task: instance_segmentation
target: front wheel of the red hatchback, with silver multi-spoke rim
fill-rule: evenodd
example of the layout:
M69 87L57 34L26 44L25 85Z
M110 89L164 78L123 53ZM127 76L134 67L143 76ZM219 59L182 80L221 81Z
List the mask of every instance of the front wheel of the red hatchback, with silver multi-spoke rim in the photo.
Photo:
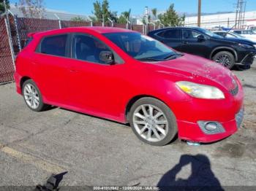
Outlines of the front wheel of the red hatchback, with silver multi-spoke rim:
M176 117L156 98L140 98L129 112L129 122L138 139L154 146L170 143L177 134Z

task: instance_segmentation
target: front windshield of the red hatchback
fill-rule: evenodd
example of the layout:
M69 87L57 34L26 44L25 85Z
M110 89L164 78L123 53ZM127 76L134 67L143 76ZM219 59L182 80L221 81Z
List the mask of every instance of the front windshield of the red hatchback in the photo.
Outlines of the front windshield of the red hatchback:
M140 61L163 61L178 55L161 42L135 32L103 34L124 52Z

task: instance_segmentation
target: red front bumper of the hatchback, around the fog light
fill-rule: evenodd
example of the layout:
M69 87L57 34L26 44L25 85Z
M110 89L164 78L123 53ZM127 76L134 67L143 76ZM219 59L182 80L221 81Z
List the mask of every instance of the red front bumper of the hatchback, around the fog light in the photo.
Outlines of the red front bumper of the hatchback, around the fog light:
M183 112L176 113L178 138L196 142L214 142L236 133L244 117L244 92L238 85L236 95L224 100L193 99L184 105ZM218 122L223 130L207 133L200 127L200 121ZM199 122L199 123L198 123Z

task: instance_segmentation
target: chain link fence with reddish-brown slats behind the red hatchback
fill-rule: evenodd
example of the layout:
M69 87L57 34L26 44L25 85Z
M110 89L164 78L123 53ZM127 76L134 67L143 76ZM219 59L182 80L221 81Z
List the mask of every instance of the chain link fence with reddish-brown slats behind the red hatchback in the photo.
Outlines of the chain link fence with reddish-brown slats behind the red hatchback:
M4 20L4 17L0 17L0 84L13 80L15 67L12 62L12 55L15 57L15 55L22 50L26 44L29 33L75 26L102 26L102 23L87 21L48 20L31 17L15 17L14 15L9 15L10 25L6 24ZM112 25L111 23L105 23L104 26L110 27ZM128 28L142 34L146 34L148 31L156 28L156 26L152 25L145 26L118 23L113 23L113 27ZM8 30L10 31L9 36Z

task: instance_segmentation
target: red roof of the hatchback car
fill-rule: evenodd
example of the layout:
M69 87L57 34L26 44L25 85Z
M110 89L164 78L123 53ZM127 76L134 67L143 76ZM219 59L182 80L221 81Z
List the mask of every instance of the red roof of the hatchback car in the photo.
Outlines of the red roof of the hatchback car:
M75 31L94 31L98 34L109 34L109 33L121 33L121 32L134 32L137 33L137 31L131 31L125 28L116 28L116 27L102 27L102 26L82 26L82 27L69 27L69 28L61 28L61 29L54 29L50 31L39 31L36 33L30 33L28 36L34 36L34 35L48 35L48 34L58 34L62 32L75 32Z

